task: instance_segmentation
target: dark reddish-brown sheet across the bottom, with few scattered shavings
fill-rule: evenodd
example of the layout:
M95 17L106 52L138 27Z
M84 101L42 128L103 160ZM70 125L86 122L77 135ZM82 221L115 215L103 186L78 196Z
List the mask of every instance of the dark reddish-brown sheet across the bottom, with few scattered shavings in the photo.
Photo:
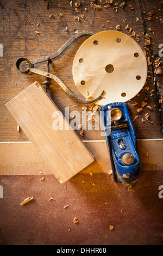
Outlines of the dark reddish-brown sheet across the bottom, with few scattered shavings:
M108 174L77 174L67 188L44 177L0 177L1 245L162 245L162 171L143 172L133 191ZM27 197L33 200L21 206Z

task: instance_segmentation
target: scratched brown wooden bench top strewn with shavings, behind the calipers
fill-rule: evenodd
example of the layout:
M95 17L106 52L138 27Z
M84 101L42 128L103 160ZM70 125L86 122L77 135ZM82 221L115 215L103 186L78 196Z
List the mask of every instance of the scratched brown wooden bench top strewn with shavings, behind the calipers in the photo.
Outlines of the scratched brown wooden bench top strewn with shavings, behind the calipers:
M158 59L159 45L162 43L162 25L160 19L162 15L161 2L153 1L126 1L123 9L119 7L118 11L113 9L113 4L108 8L104 8L106 4L102 4L101 10L91 8L90 1L84 1L76 12L72 1L48 1L48 9L46 1L1 1L1 44L3 44L4 57L0 57L0 72L1 72L1 141L27 141L27 137L23 132L16 132L16 121L11 117L5 103L11 100L24 88L29 86L34 81L43 84L44 78L34 74L23 75L16 70L15 62L17 58L27 57L29 60L46 56L57 51L72 35L74 29L78 32L92 31L97 33L104 30L116 30L116 25L120 24L121 32L130 35L129 29L125 29L127 25L140 35L138 44L144 49L145 35L151 35L151 46L147 47L147 57L151 58L152 65L149 66L150 77L147 78L147 84L142 89L139 96L127 102L131 119L137 115L136 107L141 107L141 102L145 100L147 105L153 107L153 111L143 107L143 111L139 114L140 118L133 122L137 138L161 138L162 129L162 112L161 99L162 93L162 76L154 74L154 60ZM122 1L121 1L122 2ZM104 3L104 2L103 2ZM98 2L98 4L100 4ZM134 8L130 9L129 4ZM87 8L85 11L84 8ZM155 8L154 8L155 7ZM159 10L160 9L160 10ZM143 13L145 11L145 13ZM154 11L152 20L146 20L149 16L148 11ZM49 15L53 14L52 17ZM61 17L59 14L63 14ZM74 16L84 15L84 19L80 17L80 21L74 20ZM140 21L136 22L136 17ZM156 17L158 17L156 19ZM110 21L110 22L107 22ZM39 22L39 26L38 25ZM66 27L68 30L66 31ZM152 29L152 32L148 28ZM39 34L36 34L38 31ZM82 97L77 88L74 87L72 79L72 62L73 58L82 44L87 38L81 38L69 47L61 56L55 59L51 65L51 72L57 75L76 95ZM135 39L135 38L134 38ZM135 39L136 40L136 39ZM137 41L137 40L136 40ZM161 57L162 60L162 57ZM92 60L93 61L93 60ZM91 63L90 63L91 65ZM38 68L46 70L46 64L35 65ZM159 87L153 84L154 77ZM149 89L147 90L146 87ZM151 93L151 90L155 90ZM64 107L70 107L70 112L77 110L82 113L82 104L72 100L55 82L48 90L48 94L52 97L60 111L64 113ZM150 96L153 94L153 96ZM136 106L132 103L137 102ZM154 107L155 106L155 107ZM142 123L142 118L146 113L149 113L153 124ZM77 131L79 134L79 131ZM85 139L101 139L99 131L86 131Z

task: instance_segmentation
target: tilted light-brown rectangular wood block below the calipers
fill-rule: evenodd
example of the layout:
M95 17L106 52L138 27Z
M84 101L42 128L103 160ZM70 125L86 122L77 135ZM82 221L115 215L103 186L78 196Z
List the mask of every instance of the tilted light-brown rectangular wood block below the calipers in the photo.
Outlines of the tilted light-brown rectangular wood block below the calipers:
M94 161L38 82L31 84L6 106L60 182L67 181ZM61 130L52 127L55 112L55 117L63 121Z

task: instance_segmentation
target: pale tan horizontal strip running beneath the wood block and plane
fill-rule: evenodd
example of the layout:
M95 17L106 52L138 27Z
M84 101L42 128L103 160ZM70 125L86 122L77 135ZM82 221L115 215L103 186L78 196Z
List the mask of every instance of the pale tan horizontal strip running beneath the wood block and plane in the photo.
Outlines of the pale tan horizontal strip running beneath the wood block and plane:
M105 141L84 141L95 161L80 173L108 173L111 169ZM138 151L143 171L162 170L163 140L138 140ZM0 175L52 174L46 161L37 154L30 142L0 143Z

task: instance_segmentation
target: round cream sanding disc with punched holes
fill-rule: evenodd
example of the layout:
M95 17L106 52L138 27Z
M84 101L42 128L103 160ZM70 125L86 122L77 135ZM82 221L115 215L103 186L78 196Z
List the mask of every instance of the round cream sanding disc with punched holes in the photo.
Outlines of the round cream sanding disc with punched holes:
M80 46L73 60L73 80L86 99L98 105L125 102L140 92L147 78L147 60L130 36L118 31L92 35Z

